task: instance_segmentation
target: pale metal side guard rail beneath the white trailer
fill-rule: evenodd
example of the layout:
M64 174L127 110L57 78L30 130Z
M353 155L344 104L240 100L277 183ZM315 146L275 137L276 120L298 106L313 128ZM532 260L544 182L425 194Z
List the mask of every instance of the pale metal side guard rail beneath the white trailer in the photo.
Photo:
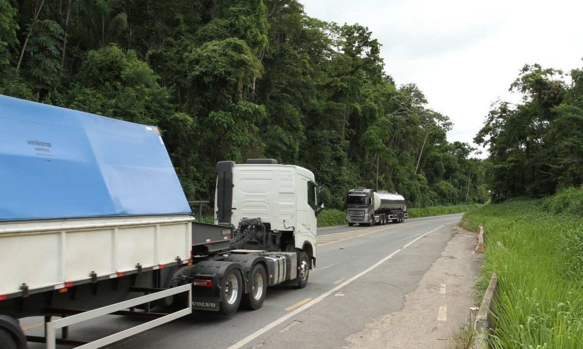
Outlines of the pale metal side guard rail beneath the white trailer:
M107 346L108 344L114 343L118 340L125 339L129 336L133 336L134 334L138 334L140 332L152 329L153 327L162 325L163 323L167 323L174 319L178 319L182 316L191 314L192 286L190 284L185 284L182 286L174 287L172 289L157 291L155 293L146 294L141 297L132 298L131 300L107 305L106 307L80 312L79 314L66 316L65 318L49 320L45 322L45 342L47 343L47 349L55 349L55 347L59 343L60 339L57 339L55 336L55 331L58 329L66 329L68 326L75 325L87 320L91 320L99 316L109 315L115 312L119 313L124 309L134 308L141 304L146 304L152 301L160 300L162 298L184 292L188 292L187 305L185 308L181 308L178 311L172 312L170 314L162 315L159 318L155 318L148 322L142 323L141 325L131 327L121 332L110 334L109 336L103 337L101 339L85 342L81 346L75 347L75 349L101 348L103 346ZM68 344L83 343L82 341L72 340L65 341L69 342Z

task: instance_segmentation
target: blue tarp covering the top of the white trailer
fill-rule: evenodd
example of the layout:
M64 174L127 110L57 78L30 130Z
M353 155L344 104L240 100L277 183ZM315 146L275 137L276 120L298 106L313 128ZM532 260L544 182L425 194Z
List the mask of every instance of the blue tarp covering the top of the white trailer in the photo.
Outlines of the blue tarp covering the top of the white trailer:
M0 220L190 212L156 127L0 95Z

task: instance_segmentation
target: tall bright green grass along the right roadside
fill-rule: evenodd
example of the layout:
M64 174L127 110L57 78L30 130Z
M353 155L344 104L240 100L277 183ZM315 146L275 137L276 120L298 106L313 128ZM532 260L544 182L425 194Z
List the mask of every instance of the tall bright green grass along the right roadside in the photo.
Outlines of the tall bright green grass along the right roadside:
M583 190L545 200L484 205L462 224L484 224L486 251L477 288L498 275L493 348L583 347L583 218L570 213ZM561 209L551 210L550 207Z

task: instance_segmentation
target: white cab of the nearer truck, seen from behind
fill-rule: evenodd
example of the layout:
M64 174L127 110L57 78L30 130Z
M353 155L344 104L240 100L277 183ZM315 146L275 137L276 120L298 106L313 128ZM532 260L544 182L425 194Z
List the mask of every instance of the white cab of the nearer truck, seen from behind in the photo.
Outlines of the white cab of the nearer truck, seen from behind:
M216 170L215 224L235 228L231 247L297 251L301 272L313 269L317 215L324 207L314 173L273 159L221 161Z

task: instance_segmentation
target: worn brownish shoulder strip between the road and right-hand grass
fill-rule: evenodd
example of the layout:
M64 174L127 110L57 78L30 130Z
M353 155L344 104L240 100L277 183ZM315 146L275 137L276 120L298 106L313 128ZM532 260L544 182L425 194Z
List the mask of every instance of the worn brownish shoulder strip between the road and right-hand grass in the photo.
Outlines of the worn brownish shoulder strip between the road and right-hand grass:
M473 285L482 255L473 252L476 233L452 226L452 238L441 257L406 295L403 309L367 324L347 338L347 349L442 349L454 346L452 336L475 305Z

